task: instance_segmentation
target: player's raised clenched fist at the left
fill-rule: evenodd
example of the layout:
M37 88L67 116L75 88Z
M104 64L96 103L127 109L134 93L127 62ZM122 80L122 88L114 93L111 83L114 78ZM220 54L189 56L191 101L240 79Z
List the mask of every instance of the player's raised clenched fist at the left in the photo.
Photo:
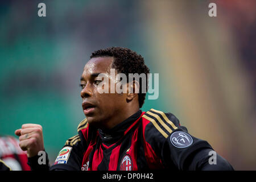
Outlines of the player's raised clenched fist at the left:
M27 157L38 155L44 150L43 128L41 125L24 124L21 129L15 131L19 137L19 146L23 151L27 151Z

